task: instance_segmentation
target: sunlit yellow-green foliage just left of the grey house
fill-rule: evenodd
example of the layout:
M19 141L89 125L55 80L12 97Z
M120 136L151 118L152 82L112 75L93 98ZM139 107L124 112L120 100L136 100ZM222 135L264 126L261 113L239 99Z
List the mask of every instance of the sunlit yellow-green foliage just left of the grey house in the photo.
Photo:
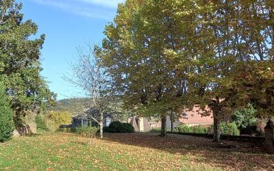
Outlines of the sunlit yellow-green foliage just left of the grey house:
M71 114L68 111L50 111L49 119L56 124L71 124Z

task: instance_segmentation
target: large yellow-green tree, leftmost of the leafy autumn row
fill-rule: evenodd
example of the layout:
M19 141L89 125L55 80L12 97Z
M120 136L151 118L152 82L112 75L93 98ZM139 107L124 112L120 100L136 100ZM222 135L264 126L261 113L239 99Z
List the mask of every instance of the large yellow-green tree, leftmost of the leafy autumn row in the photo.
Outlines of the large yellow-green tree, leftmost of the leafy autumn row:
M184 75L176 73L164 49L182 50L178 1L126 1L114 23L105 28L103 63L114 76L115 88L128 108L162 120L166 135L168 111L178 108L176 96L186 90ZM184 30L184 29L183 29ZM179 72L182 72L179 70Z

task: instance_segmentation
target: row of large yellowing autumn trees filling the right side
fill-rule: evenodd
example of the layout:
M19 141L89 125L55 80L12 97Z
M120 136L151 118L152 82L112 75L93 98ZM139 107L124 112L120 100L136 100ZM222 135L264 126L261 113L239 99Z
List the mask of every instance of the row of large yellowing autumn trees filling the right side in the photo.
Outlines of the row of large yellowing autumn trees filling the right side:
M221 117L248 103L272 122L273 10L267 0L127 0L95 53L125 107L162 118L162 136L167 114L200 105L219 142Z

